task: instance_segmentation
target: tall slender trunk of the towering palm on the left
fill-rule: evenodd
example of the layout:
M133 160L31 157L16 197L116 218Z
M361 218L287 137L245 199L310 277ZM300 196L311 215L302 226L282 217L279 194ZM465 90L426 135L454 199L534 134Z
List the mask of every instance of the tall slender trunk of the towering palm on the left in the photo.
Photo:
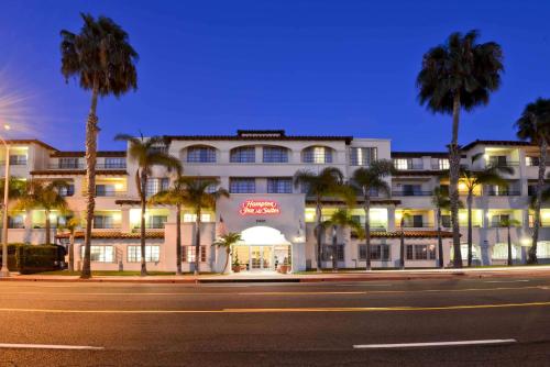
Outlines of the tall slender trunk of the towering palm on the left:
M91 92L91 105L86 122L86 232L84 235L84 262L80 278L91 278L90 248L91 248L91 226L94 222L94 210L96 209L96 156L97 138L99 133L98 118L96 110L98 105L99 86L94 82Z

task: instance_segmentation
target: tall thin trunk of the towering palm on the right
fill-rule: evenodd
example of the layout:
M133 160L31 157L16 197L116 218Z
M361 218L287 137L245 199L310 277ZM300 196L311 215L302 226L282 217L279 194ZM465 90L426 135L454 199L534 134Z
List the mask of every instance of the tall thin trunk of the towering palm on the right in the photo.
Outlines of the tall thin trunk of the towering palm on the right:
M459 224L459 175L460 175L460 149L459 149L459 119L460 119L460 93L453 99L452 111L452 140L449 145L449 199L451 201L452 221L452 245L454 251L453 265L462 267L462 255L460 253L460 224Z

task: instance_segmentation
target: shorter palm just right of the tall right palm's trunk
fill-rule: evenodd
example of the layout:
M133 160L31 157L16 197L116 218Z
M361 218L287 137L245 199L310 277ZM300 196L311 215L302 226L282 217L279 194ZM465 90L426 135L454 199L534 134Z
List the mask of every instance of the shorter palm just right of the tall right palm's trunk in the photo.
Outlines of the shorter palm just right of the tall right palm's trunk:
M483 154L472 157L472 163L477 160ZM483 185L494 185L498 187L508 187L508 182L503 178L503 174L513 175L514 168L498 165L490 165L484 169L461 168L460 180L464 184L468 196L468 266L472 266L472 204L474 200L474 190Z

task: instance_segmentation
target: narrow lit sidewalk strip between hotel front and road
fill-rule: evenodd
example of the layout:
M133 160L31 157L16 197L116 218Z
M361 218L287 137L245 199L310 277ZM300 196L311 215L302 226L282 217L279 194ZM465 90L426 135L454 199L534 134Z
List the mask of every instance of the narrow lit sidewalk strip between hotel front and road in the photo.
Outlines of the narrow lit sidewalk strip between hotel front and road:
M62 282L124 282L124 283L223 283L223 282L323 282L323 281L373 281L414 279L462 279L490 277L548 277L550 266L515 266L462 269L411 269L411 270L342 270L339 273L277 274L240 273L230 275L185 276L95 276L82 280L78 276L19 275L11 274L0 281L62 281Z

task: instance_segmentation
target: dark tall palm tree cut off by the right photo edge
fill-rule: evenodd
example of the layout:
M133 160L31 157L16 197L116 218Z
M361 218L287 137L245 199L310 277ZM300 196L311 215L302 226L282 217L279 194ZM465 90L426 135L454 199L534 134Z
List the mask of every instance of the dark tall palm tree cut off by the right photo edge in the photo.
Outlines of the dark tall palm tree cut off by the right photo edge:
M535 223L532 229L532 245L528 253L528 264L537 264L537 242L540 230L540 205L542 204L542 190L547 168L548 142L550 140L550 99L539 98L526 105L521 116L516 121L517 136L529 141L539 147L539 177L537 196L535 198Z

